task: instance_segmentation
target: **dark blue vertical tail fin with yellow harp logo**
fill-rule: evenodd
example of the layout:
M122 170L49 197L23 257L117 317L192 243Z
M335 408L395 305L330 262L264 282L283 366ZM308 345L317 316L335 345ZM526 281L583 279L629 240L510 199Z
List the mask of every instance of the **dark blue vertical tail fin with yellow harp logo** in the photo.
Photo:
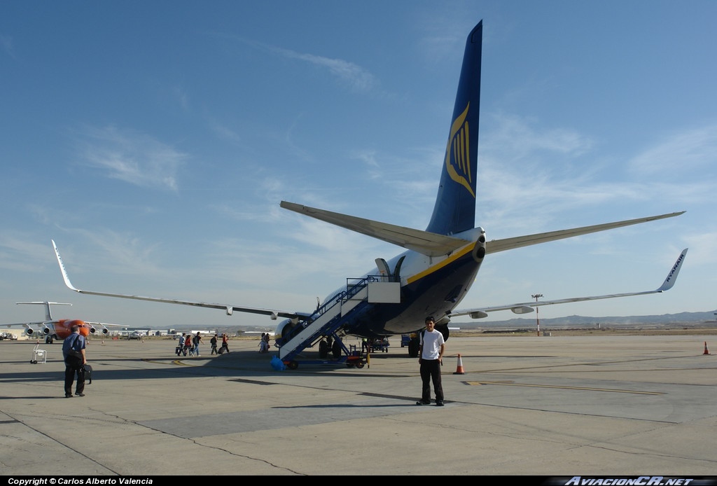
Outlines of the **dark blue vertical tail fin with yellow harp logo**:
M427 232L455 234L475 227L480 57L483 21L468 35L440 186Z

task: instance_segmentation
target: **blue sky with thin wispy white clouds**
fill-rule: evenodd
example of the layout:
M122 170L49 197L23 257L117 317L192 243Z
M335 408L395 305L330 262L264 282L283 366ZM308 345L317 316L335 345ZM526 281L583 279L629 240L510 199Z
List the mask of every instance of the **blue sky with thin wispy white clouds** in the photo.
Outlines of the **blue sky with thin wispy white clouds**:
M76 287L281 310L402 251L281 200L423 229L483 19L488 239L686 210L490 255L460 308L657 288L563 315L717 308L714 1L0 3L1 322L267 325ZM504 320L495 313L488 320Z

